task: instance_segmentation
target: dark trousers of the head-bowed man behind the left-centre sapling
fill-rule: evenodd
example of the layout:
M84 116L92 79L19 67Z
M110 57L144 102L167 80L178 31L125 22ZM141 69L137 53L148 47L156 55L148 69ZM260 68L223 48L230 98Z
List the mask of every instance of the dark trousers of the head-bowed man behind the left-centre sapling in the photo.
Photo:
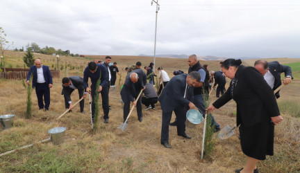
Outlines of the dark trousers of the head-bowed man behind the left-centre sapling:
M92 93L92 118L94 118L94 109L95 109L95 103L94 103L94 96L96 94L96 86L91 86L91 93ZM102 98L102 108L103 108L103 118L104 120L108 119L108 113L109 113L109 107L108 107L108 86L102 87L101 98Z

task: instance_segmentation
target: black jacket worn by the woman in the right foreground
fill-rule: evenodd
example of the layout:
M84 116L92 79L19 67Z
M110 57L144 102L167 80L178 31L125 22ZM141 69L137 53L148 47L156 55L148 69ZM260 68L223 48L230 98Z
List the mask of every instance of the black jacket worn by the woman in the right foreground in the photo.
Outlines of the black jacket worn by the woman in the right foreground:
M251 66L238 67L235 82L231 80L229 88L213 106L219 109L231 99L237 103L237 126L242 123L251 127L280 115L274 92L263 75Z

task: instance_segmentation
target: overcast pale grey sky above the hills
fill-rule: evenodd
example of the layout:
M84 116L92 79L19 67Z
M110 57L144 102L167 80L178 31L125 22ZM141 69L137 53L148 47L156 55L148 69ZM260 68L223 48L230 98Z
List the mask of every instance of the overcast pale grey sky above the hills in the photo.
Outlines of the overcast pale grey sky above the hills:
M299 0L158 0L156 54L300 57ZM153 55L151 0L1 0L15 48L35 42L86 55Z

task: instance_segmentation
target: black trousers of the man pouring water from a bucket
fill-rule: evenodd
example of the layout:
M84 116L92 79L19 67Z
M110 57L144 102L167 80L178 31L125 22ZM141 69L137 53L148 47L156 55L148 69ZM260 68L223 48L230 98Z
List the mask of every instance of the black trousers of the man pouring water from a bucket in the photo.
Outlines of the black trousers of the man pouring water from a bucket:
M188 111L187 107L179 106L174 109L174 113L177 119L177 134L185 134L185 120L186 112ZM160 142L165 143L169 142L169 122L172 118L172 111L163 112L163 123Z

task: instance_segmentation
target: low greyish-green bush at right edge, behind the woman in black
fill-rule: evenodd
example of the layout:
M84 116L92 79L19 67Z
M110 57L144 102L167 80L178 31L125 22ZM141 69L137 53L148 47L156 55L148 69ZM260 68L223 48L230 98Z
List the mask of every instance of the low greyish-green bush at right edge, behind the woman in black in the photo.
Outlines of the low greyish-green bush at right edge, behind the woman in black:
M296 101L284 100L278 102L278 107L281 113L286 113L293 117L300 117L300 104Z

